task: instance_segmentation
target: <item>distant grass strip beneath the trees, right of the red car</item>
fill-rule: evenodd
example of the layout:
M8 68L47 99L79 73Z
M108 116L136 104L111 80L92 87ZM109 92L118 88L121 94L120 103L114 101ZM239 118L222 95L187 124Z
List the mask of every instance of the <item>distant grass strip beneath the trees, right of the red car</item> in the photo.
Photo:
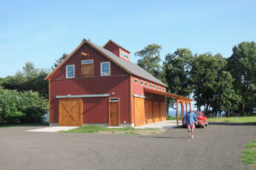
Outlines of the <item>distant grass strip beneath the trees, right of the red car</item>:
M256 116L214 117L208 118L208 122L256 122Z

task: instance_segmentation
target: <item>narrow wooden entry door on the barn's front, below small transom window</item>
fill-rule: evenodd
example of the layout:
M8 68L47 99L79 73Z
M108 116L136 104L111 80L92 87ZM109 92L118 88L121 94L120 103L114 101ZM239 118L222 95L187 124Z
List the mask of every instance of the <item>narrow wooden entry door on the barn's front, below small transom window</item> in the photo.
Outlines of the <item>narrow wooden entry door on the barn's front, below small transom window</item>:
M119 126L119 101L109 101L109 126Z

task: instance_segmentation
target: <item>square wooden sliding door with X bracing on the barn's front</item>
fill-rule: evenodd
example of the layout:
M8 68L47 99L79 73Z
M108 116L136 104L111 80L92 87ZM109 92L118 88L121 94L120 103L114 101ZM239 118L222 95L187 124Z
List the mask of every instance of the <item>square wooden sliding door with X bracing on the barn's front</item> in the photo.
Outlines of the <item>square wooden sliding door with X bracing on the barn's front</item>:
M83 99L59 99L59 125L83 125Z

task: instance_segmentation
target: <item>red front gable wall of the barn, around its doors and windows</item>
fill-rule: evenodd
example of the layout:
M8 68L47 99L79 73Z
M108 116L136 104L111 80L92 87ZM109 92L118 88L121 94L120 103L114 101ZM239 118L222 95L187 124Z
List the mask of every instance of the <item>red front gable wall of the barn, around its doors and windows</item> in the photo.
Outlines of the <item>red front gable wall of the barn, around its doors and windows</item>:
M83 56L81 52L89 54L89 57ZM81 77L80 66L82 59L94 59L94 77ZM50 83L50 122L57 123L59 121L56 95L110 94L109 97L119 97L119 122L131 123L130 75L110 61L111 76L102 77L102 61L110 60L88 44L84 44L78 52L73 54L73 57L67 60L65 65L55 71ZM75 65L75 78L66 78L66 65ZM89 102L87 106L86 101ZM106 114L108 105L107 107L105 106L107 101L108 97L104 99L84 99L84 123L108 123L108 115ZM93 104L93 102L95 103ZM94 109L85 111L88 107L94 107ZM102 111L102 113L98 111ZM100 116L102 117L98 118L99 115L96 116L92 113L101 114Z

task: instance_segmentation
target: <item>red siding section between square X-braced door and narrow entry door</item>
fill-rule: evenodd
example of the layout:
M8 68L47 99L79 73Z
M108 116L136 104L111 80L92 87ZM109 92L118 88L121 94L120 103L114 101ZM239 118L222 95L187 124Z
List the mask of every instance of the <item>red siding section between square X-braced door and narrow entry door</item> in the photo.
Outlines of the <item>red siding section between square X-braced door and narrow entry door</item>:
M84 98L84 123L108 123L108 98Z

